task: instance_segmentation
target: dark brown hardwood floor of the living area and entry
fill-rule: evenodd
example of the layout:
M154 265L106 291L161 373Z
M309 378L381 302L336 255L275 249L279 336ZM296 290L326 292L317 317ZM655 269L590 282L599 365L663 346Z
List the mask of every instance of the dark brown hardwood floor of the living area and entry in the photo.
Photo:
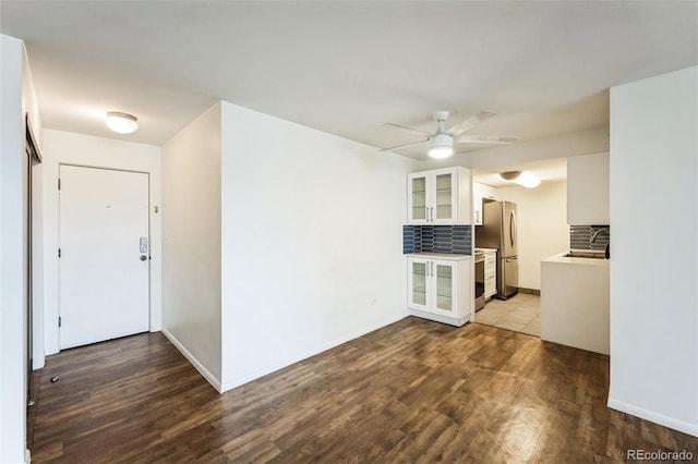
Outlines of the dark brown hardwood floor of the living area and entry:
M222 395L160 333L50 356L39 382L34 463L698 460L606 407L607 356L478 323L410 317Z

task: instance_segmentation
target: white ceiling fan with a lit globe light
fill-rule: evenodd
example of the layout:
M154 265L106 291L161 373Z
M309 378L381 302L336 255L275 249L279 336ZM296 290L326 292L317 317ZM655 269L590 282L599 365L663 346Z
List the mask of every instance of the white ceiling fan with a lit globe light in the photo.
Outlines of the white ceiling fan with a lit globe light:
M477 124L489 120L496 115L492 111L480 111L478 114L472 115L461 122L460 124L446 130L444 123L450 115L449 111L441 110L432 114L432 119L438 123L436 132L430 134L429 132L418 131L416 129L405 127L402 125L386 123L385 127L397 129L402 132L407 132L413 135L420 135L426 137L423 141L410 142L409 144L397 145L388 148L381 148L378 151L388 151L397 148L409 147L411 145L418 145L429 142L429 156L432 158L446 158L454 154L454 142L457 144L510 144L516 142L518 137L501 137L493 135L462 135L464 132L469 131Z

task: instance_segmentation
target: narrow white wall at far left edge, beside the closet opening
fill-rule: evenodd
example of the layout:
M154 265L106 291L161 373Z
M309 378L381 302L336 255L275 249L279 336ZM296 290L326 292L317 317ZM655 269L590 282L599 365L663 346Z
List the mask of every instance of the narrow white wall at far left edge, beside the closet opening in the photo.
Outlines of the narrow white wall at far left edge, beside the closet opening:
M0 35L0 462L25 462L27 281L23 216L25 124L41 131L26 51ZM40 138L38 141L40 144ZM40 274L40 269L38 269Z

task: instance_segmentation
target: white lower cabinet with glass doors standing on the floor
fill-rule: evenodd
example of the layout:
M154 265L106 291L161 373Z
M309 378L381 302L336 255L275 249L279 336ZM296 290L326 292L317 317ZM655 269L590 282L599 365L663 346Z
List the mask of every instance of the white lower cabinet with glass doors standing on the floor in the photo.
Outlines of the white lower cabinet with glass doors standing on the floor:
M472 258L468 255L407 255L407 303L412 316L460 327L472 321Z

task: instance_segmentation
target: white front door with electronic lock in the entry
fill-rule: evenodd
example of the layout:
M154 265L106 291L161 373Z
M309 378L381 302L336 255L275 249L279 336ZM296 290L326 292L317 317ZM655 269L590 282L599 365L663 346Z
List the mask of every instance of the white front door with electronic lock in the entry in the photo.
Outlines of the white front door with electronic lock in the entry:
M149 329L148 174L60 167L60 346Z

